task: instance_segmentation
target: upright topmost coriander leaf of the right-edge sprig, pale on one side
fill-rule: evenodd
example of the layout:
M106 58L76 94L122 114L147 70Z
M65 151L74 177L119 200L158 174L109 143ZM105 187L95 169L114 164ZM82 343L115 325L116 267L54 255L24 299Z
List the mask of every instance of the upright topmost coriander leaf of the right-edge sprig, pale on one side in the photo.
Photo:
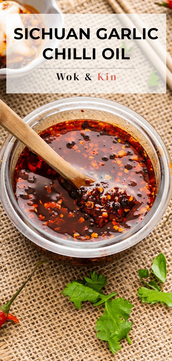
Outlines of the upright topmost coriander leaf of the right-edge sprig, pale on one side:
M166 259L163 253L160 253L158 257L154 258L152 263L151 272L159 279L160 282L164 283L167 276Z

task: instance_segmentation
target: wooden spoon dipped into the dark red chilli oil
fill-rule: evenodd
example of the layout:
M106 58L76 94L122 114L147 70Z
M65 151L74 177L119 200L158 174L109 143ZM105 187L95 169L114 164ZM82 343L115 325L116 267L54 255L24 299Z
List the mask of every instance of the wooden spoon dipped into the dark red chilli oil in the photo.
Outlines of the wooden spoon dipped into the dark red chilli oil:
M20 118L12 109L0 100L0 125L25 144L63 178L72 182L78 189L88 186L94 179L79 172L61 158L40 136Z

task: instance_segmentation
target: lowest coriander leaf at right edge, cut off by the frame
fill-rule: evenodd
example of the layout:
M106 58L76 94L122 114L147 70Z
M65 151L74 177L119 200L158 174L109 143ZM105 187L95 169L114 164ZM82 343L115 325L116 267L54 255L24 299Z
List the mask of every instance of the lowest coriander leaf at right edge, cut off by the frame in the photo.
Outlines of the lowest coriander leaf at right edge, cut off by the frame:
M137 296L141 297L142 302L147 303L165 303L167 306L172 307L172 293L149 290L146 287L140 287L138 289Z

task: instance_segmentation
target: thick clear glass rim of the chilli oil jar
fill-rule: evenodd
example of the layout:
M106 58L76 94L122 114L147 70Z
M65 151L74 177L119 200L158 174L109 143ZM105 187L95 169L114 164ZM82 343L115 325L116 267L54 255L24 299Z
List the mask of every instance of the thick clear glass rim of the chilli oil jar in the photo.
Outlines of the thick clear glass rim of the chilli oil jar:
M8 161L10 161L10 151L16 139L11 135L7 137L0 152L0 199L10 220L17 229L32 242L47 249L48 251L64 256L93 258L124 251L141 241L141 239L145 238L162 218L170 199L172 184L170 176L170 157L162 138L149 122L125 105L97 97L69 97L53 101L37 108L33 112L29 113L24 120L27 123L32 123L32 126L34 126L42 119L48 117L48 115L50 116L65 109L85 108L98 109L104 112L107 111L108 113L112 112L121 118L125 118L128 122L137 124L144 135L149 135L149 139L151 140L153 147L156 149L162 174L160 178L159 191L154 204L142 221L125 234L119 234L111 239L99 240L96 242L75 242L72 240L64 240L58 236L49 235L44 230L37 228L36 225L34 226L34 224L25 216L18 206L12 190L10 172L7 164ZM36 121L36 117L39 118L39 120Z

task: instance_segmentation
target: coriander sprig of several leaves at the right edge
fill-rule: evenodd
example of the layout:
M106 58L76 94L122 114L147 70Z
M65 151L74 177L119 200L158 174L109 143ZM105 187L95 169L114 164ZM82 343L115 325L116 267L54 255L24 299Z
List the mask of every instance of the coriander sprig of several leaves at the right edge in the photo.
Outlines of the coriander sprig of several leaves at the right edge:
M158 257L154 258L152 263L151 272L162 283L165 282L167 276L166 259L163 253L160 253ZM145 283L147 287L140 287L137 295L141 297L142 302L146 303L165 303L167 306L172 307L172 293L161 291L160 287L154 280L146 282L143 278L150 277L148 270L138 270L139 278Z

